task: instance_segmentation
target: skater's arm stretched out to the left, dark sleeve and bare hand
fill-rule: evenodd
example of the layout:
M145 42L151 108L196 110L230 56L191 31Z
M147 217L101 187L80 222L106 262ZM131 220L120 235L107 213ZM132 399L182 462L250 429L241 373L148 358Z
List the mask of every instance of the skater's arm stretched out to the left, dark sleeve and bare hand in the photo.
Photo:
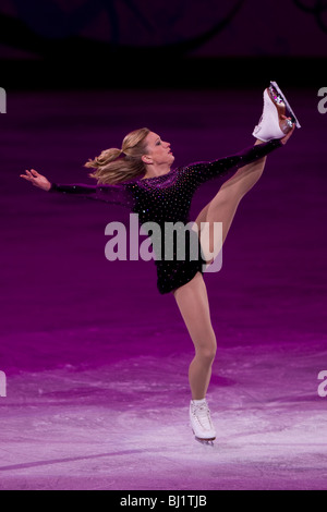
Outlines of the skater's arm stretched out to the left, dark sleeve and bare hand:
M39 174L35 169L26 170L26 174L21 174L26 181L34 186L50 193L74 194L82 197L102 200L105 203L117 204L130 208L132 206L132 197L125 186L117 185L85 185L80 183L58 184L51 183L46 176Z

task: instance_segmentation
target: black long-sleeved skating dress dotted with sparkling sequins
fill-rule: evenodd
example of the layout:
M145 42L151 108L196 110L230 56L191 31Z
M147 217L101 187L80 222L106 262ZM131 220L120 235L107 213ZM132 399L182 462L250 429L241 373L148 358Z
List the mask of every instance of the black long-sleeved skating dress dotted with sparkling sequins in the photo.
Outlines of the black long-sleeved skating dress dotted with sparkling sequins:
M196 272L203 272L205 260L202 257L198 235L193 230L184 230L185 253L183 259L177 254L177 235L170 231L165 236L165 225L168 222L175 225L186 225L190 222L190 207L194 193L198 187L215 178L226 176L230 170L251 163L281 146L279 139L252 146L229 157L209 162L195 162L185 167L172 169L160 176L130 180L116 185L84 185L52 183L49 192L76 194L110 204L129 208L138 214L140 224L156 222L161 229L161 252L155 252L157 267L157 288L161 294L187 283ZM217 194L218 188L215 188ZM170 224L170 225L172 225ZM153 236L152 236L153 237ZM196 237L198 256L190 251L190 237ZM165 249L172 247L172 254L167 256ZM156 245L158 247L158 245Z

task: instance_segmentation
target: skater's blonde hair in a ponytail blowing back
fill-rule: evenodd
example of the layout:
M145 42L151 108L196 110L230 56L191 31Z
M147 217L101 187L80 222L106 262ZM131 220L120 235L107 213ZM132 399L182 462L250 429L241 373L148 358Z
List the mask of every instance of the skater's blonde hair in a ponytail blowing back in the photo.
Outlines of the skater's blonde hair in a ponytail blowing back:
M129 133L122 143L121 149L105 149L94 160L88 160L84 167L95 169L89 178L98 181L98 184L114 184L135 178L146 171L142 160L146 154L145 138L150 132L143 127Z

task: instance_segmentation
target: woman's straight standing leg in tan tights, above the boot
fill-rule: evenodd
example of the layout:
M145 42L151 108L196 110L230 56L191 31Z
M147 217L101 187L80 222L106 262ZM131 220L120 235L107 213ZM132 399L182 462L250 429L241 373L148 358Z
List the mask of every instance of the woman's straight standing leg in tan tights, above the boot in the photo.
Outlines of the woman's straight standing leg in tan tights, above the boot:
M201 272L173 292L195 346L195 356L190 365L189 380L193 400L205 398L216 355L216 336L211 326L206 285Z

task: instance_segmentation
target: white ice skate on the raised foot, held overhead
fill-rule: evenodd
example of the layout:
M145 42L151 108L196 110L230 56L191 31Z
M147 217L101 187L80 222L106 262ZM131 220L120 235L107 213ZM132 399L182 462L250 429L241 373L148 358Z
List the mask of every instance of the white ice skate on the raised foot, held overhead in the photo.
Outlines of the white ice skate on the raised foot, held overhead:
M276 82L270 82L264 92L263 114L252 135L264 142L282 138L293 127L293 123L301 127L286 96Z

